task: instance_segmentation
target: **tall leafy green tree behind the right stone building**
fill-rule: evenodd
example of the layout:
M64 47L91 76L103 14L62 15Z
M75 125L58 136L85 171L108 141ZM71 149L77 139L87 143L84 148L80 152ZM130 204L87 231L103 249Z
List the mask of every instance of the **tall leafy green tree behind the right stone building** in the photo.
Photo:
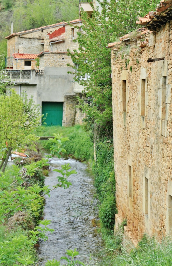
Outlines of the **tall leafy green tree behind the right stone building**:
M79 49L68 51L74 63L74 80L85 88L86 99L80 99L80 107L86 113L86 126L92 128L95 139L113 137L111 58L106 46L118 40L118 36L136 29L137 16L155 8L155 0L98 2L101 13L92 3L92 18L81 12L82 31L74 40ZM89 73L88 80L81 78L85 73Z

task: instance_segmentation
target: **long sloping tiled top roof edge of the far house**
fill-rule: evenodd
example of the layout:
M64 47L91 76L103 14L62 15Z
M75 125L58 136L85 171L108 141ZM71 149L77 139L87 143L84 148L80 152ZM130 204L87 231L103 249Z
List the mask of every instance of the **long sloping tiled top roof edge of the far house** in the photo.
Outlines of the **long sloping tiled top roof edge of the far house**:
M69 23L81 22L81 21L82 21L81 19L75 19L75 20L69 21ZM61 25L64 25L64 24L69 24L69 23L63 21L63 22L59 22L59 23L56 23L56 24L51 24L51 25L47 25L47 26L43 26L43 27L31 29L31 30L15 32L15 33L10 34L9 36L5 37L5 39L10 39L10 38L12 38L13 36L16 36L16 35L27 34L27 33L30 33L30 32L40 31L40 30L44 30L44 29L48 29L48 28L53 28L53 27L56 27L56 26L61 26Z

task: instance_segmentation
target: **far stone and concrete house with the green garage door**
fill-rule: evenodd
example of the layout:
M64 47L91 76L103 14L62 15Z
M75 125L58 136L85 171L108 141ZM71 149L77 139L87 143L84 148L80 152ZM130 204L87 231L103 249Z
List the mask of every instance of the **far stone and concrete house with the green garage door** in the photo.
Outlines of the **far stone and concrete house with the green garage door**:
M78 48L73 40L78 31L75 26L81 24L82 20L76 19L6 37L7 74L19 94L26 91L42 106L42 114L48 114L47 125L71 126L82 121L75 105L83 87L73 81L73 75L68 74L73 68L67 66L72 64L67 49Z

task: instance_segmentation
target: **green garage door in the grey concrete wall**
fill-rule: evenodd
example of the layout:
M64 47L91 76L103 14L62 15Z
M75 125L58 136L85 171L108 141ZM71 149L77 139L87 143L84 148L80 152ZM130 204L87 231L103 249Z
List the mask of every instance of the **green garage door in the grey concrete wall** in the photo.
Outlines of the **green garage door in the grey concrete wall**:
M63 102L42 102L42 114L47 114L44 122L47 126L62 126Z

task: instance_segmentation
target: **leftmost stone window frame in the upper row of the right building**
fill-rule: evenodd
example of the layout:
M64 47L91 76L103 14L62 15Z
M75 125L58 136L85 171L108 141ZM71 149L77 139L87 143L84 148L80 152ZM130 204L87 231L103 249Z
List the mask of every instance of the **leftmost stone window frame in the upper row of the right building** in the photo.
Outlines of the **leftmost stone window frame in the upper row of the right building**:
M126 82L125 97L124 97L124 81ZM129 102L127 70L122 70L121 72L120 102L121 102L121 110L122 110L122 122L123 122L123 125L126 126L126 113L128 111L127 103ZM124 104L125 104L125 108L124 108Z

